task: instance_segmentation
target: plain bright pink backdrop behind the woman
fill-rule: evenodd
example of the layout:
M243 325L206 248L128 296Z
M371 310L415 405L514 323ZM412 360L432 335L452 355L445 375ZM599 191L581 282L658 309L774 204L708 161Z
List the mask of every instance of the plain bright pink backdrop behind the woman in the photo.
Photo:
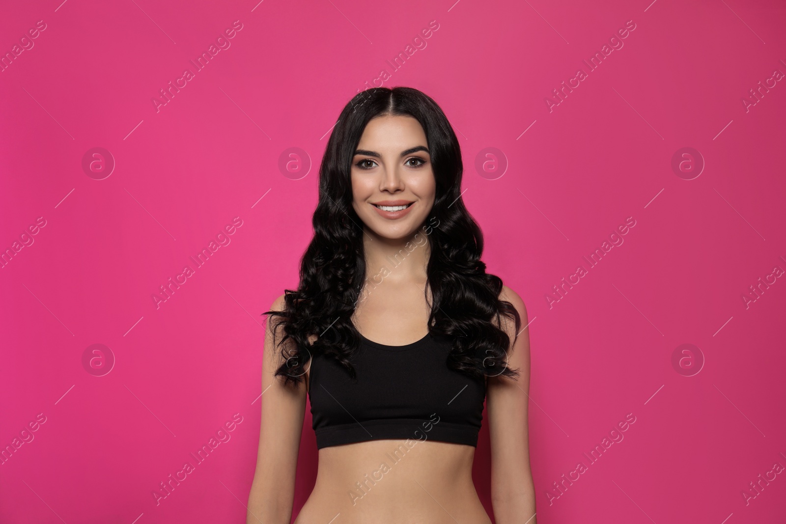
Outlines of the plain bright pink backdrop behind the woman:
M786 85L767 80L786 73L783 2L60 2L0 18L4 54L46 24L0 72L0 248L32 241L0 269L0 445L46 417L3 458L0 521L244 522L259 313L297 284L329 130L384 69L453 123L484 260L527 304L538 522L784 522L786 474L767 473L786 465L786 281L767 277L786 269ZM234 20L230 47L156 112ZM391 68L432 20L426 47ZM578 68L588 77L549 111ZM757 101L760 81L775 86ZM102 180L82 167L96 147L116 163ZM691 180L671 167L684 147L705 164ZM288 148L310 170L280 170ZM507 163L500 178L476 170L484 148ZM628 217L624 243L589 266ZM156 307L217 235L230 244ZM769 288L746 304L760 277ZM93 344L114 357L108 374L83 365ZM698 349L675 366L681 344ZM236 413L230 440L156 505ZM295 514L316 475L310 423ZM485 424L474 475L491 511ZM776 477L756 494L758 475Z

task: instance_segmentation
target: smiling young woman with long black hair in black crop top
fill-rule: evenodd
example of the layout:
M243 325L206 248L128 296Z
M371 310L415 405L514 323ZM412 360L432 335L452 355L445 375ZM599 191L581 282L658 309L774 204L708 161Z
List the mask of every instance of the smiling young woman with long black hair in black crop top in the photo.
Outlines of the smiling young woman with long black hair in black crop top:
M317 481L296 524L491 522L472 484L483 401L498 524L535 524L529 337L486 273L461 150L421 91L359 93L319 174L296 291L271 306L248 524L288 524L308 395Z

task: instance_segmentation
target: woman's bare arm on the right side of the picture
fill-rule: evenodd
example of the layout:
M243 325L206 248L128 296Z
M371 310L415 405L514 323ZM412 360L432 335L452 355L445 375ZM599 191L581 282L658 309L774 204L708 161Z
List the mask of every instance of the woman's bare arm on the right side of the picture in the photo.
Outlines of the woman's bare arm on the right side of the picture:
M491 505L497 524L535 524L535 495L530 469L527 408L530 390L530 338L527 308L507 286L500 299L507 300L519 312L521 329L516 343L516 326L503 324L512 348L508 367L518 369L518 380L501 376L489 377L486 411L491 438Z

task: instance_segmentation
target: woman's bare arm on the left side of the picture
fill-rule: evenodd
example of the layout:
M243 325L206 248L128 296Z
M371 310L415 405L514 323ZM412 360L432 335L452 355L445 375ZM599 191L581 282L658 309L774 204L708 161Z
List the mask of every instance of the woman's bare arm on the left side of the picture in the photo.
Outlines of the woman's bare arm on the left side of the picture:
M284 295L270 306L284 309ZM274 372L284 362L281 349L274 347L274 330L268 317L262 365L262 425L251 493L248 494L247 524L289 524L295 497L295 471L303 414L306 410L306 384L284 386ZM276 341L283 334L275 333ZM287 341L289 343L291 341Z

